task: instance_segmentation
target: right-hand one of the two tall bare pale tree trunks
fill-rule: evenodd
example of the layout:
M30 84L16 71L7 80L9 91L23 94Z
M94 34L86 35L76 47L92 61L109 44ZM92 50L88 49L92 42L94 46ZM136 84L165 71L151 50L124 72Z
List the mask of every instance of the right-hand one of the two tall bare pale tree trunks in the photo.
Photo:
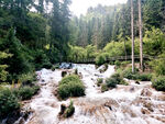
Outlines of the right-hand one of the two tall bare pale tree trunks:
M139 0L139 29L140 29L140 67L144 71L143 67L143 34L142 34L142 7L141 0Z

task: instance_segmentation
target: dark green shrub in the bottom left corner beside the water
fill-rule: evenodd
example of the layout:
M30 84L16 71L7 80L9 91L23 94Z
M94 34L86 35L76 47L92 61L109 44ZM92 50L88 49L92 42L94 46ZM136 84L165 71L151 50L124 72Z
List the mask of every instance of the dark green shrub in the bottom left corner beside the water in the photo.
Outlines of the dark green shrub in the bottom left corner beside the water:
M16 97L10 89L1 89L0 91L0 117L4 117L8 114L20 109L20 103Z

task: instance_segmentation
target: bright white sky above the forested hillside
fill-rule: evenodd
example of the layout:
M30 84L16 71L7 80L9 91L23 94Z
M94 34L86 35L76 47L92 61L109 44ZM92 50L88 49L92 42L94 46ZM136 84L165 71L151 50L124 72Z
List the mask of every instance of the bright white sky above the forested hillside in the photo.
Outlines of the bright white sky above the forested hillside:
M89 7L97 7L97 4L102 5L113 5L118 3L125 3L128 0L72 0L70 11L73 14L79 16L80 14L86 14Z

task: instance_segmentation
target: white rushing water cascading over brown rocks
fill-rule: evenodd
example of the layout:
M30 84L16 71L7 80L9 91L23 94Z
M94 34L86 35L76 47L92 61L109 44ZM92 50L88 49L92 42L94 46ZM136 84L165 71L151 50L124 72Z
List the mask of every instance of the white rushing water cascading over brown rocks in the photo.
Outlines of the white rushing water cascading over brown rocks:
M164 124L165 123L165 94L151 88L151 82L128 80L129 86L101 93L97 87L97 78L108 78L114 72L114 67L109 66L103 74L95 65L74 65L81 74L86 86L86 95L73 98L75 113L70 119L59 120L61 104L69 104L69 100L58 101L54 95L58 81L62 79L63 69L55 71L42 69L41 91L25 108L31 108L25 124Z

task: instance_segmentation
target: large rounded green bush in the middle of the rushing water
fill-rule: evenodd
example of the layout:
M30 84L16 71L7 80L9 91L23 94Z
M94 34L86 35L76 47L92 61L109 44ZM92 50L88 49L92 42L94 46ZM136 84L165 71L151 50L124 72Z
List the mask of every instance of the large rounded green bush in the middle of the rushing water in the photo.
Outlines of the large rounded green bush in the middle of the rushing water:
M81 97L85 94L85 87L76 75L64 77L59 82L58 95L61 99L69 97Z

